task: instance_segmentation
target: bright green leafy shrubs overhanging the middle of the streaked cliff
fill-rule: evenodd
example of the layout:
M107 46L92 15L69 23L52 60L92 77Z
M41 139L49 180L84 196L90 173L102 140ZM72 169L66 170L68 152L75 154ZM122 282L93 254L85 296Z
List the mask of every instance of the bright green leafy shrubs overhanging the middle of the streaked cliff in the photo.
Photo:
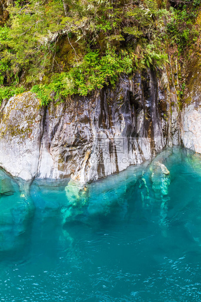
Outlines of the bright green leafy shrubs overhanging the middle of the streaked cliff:
M120 73L129 74L131 71L132 59L129 56L117 57L115 50L111 50L100 57L98 50L89 51L81 64L71 68L68 73L55 75L49 85L33 86L32 91L38 95L43 105L47 105L51 100L51 91L56 93L56 99L72 94L86 95L109 82L115 85Z

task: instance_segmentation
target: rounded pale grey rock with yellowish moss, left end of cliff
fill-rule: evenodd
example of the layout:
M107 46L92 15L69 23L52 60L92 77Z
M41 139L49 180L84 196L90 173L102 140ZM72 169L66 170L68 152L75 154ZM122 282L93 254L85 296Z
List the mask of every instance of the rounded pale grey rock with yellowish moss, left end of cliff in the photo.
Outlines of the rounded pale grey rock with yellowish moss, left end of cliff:
M12 176L33 179L37 172L44 109L31 93L0 107L0 167Z

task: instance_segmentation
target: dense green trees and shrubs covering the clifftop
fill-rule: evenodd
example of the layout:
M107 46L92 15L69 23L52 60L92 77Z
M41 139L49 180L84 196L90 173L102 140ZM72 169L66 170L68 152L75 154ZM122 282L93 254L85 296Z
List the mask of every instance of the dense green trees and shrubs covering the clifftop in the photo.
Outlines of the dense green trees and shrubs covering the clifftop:
M200 1L1 1L0 101L31 89L47 104L163 68L197 39Z

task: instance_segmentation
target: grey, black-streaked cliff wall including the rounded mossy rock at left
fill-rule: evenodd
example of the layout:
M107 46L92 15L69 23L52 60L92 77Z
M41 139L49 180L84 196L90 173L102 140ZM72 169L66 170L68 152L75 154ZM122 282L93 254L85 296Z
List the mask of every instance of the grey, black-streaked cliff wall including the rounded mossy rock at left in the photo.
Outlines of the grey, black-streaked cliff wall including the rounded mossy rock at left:
M166 72L125 76L116 88L47 108L24 93L0 107L0 167L25 180L91 182L179 144L178 116Z

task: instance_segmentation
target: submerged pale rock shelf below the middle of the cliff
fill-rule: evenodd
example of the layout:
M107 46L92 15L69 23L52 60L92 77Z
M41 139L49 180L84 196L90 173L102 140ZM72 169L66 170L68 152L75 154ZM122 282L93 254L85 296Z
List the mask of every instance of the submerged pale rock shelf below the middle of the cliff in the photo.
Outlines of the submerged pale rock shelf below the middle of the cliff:
M99 220L100 215L109 215L117 205L120 209L119 217L123 219L128 211L127 196L134 192L135 183L148 164L145 162L140 166L130 167L98 183L90 183L87 187L70 181L65 188L67 204L61 208L62 223Z

